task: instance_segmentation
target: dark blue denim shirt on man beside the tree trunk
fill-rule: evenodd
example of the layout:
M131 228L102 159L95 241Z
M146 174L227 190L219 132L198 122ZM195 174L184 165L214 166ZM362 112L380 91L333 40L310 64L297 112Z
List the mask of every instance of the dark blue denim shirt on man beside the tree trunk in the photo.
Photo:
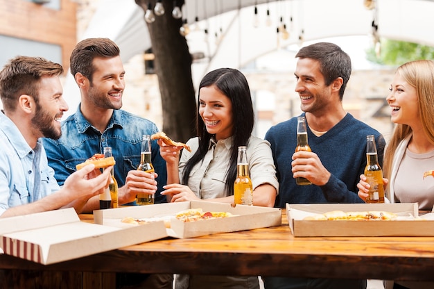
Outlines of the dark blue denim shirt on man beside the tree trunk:
M137 170L139 166L142 135L152 135L157 131L157 126L148 119L125 110L113 110L107 129L101 133L85 119L78 106L76 113L62 122L62 137L59 140L44 138L44 147L59 185L76 171L78 163L94 154L103 154L104 147L112 147L116 160L114 177L121 188L125 185L128 172ZM159 192L164 190L162 187L167 181L166 161L159 155L156 140L151 143L151 149L153 166L158 174L155 203L164 203L166 197Z

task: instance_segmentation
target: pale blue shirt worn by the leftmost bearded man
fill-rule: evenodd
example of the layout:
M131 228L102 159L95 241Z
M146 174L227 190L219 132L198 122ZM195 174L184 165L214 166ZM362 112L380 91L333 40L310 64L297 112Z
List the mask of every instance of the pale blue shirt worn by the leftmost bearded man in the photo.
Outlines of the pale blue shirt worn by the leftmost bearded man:
M42 140L32 149L17 126L0 113L0 215L59 190Z

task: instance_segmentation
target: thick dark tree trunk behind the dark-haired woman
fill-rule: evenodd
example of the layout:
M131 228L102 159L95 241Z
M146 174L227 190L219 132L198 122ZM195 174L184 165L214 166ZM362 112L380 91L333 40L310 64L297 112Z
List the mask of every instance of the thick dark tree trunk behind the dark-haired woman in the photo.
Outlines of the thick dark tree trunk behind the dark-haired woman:
M146 12L155 0L135 0ZM172 16L173 0L162 0L165 13L155 16L148 26L155 55L155 74L162 97L163 131L173 140L185 142L196 135L196 98L191 79L192 58L184 36L180 35L182 19ZM182 7L184 0L178 0ZM145 20L144 20L145 21Z

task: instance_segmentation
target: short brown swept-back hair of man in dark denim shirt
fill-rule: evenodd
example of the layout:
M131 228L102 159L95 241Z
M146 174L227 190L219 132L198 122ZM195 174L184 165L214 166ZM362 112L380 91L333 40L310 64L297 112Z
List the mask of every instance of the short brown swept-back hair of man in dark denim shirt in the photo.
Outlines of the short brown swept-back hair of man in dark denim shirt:
M71 74L80 72L92 83L95 72L94 58L112 58L119 56L119 47L108 38L87 38L78 42L69 59Z

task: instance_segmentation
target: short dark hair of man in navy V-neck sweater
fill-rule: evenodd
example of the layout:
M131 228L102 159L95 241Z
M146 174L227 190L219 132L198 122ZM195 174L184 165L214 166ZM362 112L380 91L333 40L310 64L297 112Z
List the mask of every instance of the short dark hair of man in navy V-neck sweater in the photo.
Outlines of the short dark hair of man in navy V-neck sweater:
M340 100L342 100L349 76L351 76L351 58L345 51L336 44L318 42L303 47L295 57L318 60L320 62L320 72L324 76L327 86L338 77L342 77L343 83L339 90Z

